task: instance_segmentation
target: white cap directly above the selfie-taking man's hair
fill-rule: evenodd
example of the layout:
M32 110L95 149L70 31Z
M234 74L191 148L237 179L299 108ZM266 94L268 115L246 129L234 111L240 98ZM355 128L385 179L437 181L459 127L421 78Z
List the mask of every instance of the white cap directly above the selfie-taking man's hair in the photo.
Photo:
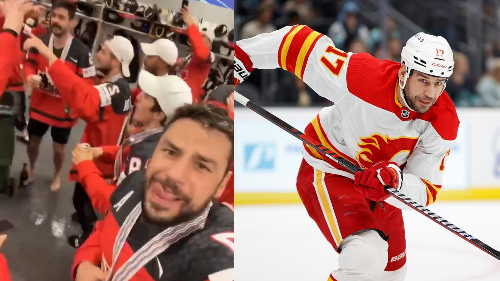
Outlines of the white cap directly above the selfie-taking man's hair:
M142 91L156 98L167 119L177 107L192 103L191 88L179 76L155 76L142 69L138 81Z

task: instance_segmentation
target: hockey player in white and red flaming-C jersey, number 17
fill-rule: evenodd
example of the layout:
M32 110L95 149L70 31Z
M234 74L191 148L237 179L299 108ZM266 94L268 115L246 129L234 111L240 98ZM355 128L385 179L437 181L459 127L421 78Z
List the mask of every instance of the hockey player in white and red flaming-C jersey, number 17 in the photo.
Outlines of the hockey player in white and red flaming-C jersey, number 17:
M346 53L304 25L236 42L235 85L255 68L294 73L334 103L305 134L364 169L351 174L304 144L297 191L339 252L328 280L404 279L405 205L383 186L422 205L436 199L459 123L444 91L453 64L448 42L423 32L408 39L401 62Z

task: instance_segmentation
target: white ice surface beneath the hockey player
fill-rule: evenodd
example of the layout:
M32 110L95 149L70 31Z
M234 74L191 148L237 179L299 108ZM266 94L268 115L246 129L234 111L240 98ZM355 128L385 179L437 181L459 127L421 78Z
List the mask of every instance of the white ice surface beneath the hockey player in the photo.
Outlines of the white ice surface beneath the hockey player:
M500 250L500 201L439 202L429 209ZM403 211L405 280L500 280L500 260L413 210ZM338 254L301 204L235 208L237 281L326 281Z

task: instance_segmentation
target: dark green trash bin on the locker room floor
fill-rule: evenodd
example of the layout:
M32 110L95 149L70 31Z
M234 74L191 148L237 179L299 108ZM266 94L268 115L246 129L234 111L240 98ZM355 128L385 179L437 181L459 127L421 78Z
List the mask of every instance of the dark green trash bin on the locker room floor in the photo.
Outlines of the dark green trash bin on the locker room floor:
M9 107L0 105L0 192L13 194L15 183L10 178L10 165L14 155L14 114Z

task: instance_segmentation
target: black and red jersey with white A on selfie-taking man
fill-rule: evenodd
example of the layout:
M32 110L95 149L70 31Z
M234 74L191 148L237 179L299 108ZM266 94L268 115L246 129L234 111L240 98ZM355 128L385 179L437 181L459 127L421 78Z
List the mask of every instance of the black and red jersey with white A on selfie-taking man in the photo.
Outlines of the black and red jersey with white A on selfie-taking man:
M77 250L73 263L83 260L111 266L113 244L127 215L141 202L145 170L127 176L111 194L111 211L104 221L97 222L94 232ZM210 208L202 229L170 245L147 262L130 281L232 281L234 280L234 215L233 211L216 201ZM119 258L116 272L141 246L164 228L137 219L132 226ZM74 275L73 275L74 276Z

